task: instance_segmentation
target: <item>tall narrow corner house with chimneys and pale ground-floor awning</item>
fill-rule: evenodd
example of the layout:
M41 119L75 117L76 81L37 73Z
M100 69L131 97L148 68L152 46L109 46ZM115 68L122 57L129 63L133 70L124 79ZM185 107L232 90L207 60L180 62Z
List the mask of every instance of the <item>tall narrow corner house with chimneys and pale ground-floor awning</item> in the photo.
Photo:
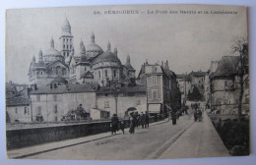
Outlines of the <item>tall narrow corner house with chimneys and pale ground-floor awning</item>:
M181 95L177 87L176 75L164 66L146 62L140 71L137 82L147 86L147 108L151 115L167 114L176 111L181 105Z

